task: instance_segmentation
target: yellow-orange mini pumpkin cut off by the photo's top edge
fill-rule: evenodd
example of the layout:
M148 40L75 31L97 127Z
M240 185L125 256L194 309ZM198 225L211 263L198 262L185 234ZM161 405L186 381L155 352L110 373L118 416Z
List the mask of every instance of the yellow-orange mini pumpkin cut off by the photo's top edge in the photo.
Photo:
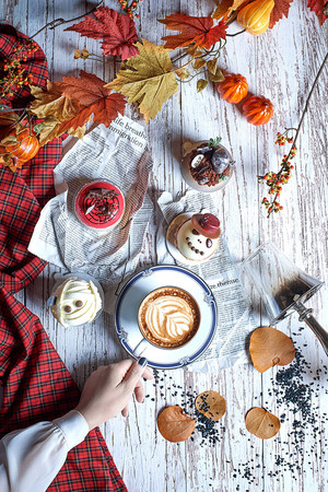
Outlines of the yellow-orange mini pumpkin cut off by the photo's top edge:
M269 27L274 0L255 0L245 5L237 15L237 22L250 34L262 34Z

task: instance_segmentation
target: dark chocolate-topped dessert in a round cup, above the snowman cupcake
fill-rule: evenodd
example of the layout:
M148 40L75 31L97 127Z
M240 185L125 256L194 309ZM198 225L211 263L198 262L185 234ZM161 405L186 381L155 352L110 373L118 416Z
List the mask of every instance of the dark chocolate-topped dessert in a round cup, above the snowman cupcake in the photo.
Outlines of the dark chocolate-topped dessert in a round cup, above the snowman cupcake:
M210 139L186 147L183 176L198 191L211 192L223 188L232 177L235 161L221 139Z

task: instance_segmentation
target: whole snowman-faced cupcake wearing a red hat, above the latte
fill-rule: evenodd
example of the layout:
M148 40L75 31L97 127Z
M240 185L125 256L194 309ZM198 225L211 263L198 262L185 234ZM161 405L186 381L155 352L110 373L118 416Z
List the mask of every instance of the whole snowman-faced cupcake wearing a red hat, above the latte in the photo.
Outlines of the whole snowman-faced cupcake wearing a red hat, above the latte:
M210 258L219 246L220 221L212 213L195 213L183 222L175 236L175 246L188 260Z

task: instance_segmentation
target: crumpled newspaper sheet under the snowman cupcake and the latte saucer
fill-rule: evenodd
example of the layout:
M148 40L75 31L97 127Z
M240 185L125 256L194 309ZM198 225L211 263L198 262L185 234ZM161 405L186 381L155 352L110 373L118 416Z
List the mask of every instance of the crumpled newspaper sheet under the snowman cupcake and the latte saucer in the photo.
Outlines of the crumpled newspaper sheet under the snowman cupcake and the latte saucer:
M179 262L166 247L167 224L176 215L184 212L218 214L211 196L190 190L177 201L173 201L172 195L165 191L159 199L159 206L165 220L156 241L159 263L176 263L201 277L212 290L218 306L215 337L208 350L188 366L188 370L214 372L236 363L248 362L246 340L257 326L224 235L221 235L219 248L211 259L195 266Z

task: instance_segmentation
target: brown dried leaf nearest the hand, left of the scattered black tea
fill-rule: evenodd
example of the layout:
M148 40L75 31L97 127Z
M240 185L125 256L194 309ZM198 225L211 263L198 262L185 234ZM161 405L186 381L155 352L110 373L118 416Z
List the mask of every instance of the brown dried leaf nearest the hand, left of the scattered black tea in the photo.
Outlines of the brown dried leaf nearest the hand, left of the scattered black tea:
M178 405L166 407L157 418L159 431L172 443L186 441L196 427L196 420L190 419Z

